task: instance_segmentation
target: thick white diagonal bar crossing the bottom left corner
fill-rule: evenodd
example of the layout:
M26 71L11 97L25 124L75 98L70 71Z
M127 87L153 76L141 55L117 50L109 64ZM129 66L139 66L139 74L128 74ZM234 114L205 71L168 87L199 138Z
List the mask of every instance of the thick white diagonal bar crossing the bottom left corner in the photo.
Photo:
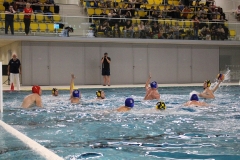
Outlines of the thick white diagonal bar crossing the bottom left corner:
M4 123L0 120L0 125L9 133L23 141L23 143L27 144L31 149L35 152L46 158L47 160L63 160L62 157L59 157L49 149L45 148L44 146L40 145L36 141L32 140L31 138L27 137L23 133L19 132L18 130L14 129L10 125Z

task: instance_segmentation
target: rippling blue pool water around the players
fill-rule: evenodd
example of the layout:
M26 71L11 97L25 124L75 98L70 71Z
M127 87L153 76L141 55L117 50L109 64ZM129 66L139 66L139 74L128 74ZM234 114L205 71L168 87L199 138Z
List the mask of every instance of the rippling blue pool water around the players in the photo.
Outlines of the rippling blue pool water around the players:
M96 90L82 89L78 105L69 91L57 98L43 91L45 107L31 109L19 108L30 92L4 92L3 121L67 160L240 159L239 86L220 87L202 108L182 105L202 87L159 88L166 111L143 101L144 88L103 90L106 100L92 101ZM133 110L115 112L126 97L135 99Z

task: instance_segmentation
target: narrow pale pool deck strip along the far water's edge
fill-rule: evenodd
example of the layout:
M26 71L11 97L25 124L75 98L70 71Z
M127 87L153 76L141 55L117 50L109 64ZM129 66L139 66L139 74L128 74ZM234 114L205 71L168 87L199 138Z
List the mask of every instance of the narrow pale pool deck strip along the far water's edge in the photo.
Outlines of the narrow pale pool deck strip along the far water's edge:
M186 83L186 84L158 84L158 87L187 87L187 86L202 86L202 83ZM222 86L239 86L240 82L234 83L222 83ZM88 88L144 88L145 84L123 84L123 85L111 85L111 86L103 86L103 85L75 85L75 88L79 89L88 89ZM52 88L58 88L59 90L69 90L69 86L41 86L42 90L52 90ZM16 89L16 87L15 87ZM32 90L32 86L21 86L20 88L23 91ZM3 84L3 91L9 91L10 85Z

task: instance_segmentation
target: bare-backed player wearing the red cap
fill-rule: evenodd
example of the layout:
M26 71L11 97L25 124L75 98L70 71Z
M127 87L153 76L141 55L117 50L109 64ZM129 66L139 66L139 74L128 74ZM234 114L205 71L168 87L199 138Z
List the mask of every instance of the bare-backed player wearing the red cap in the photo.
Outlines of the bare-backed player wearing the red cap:
M21 107L30 108L34 104L38 107L42 107L41 95L42 95L42 90L41 90L40 86L33 86L32 94L26 96L23 99L23 103L22 103Z

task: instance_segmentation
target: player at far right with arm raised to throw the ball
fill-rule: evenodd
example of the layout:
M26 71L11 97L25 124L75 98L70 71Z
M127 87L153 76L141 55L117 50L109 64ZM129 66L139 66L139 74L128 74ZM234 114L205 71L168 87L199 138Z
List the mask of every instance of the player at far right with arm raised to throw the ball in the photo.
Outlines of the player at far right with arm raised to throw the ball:
M201 98L206 98L206 99L214 99L215 96L213 93L218 89L221 82L222 82L222 80L218 80L217 85L213 89L210 89L209 88L211 86L210 80L205 80L203 83L204 91L202 93L200 93L198 96Z

